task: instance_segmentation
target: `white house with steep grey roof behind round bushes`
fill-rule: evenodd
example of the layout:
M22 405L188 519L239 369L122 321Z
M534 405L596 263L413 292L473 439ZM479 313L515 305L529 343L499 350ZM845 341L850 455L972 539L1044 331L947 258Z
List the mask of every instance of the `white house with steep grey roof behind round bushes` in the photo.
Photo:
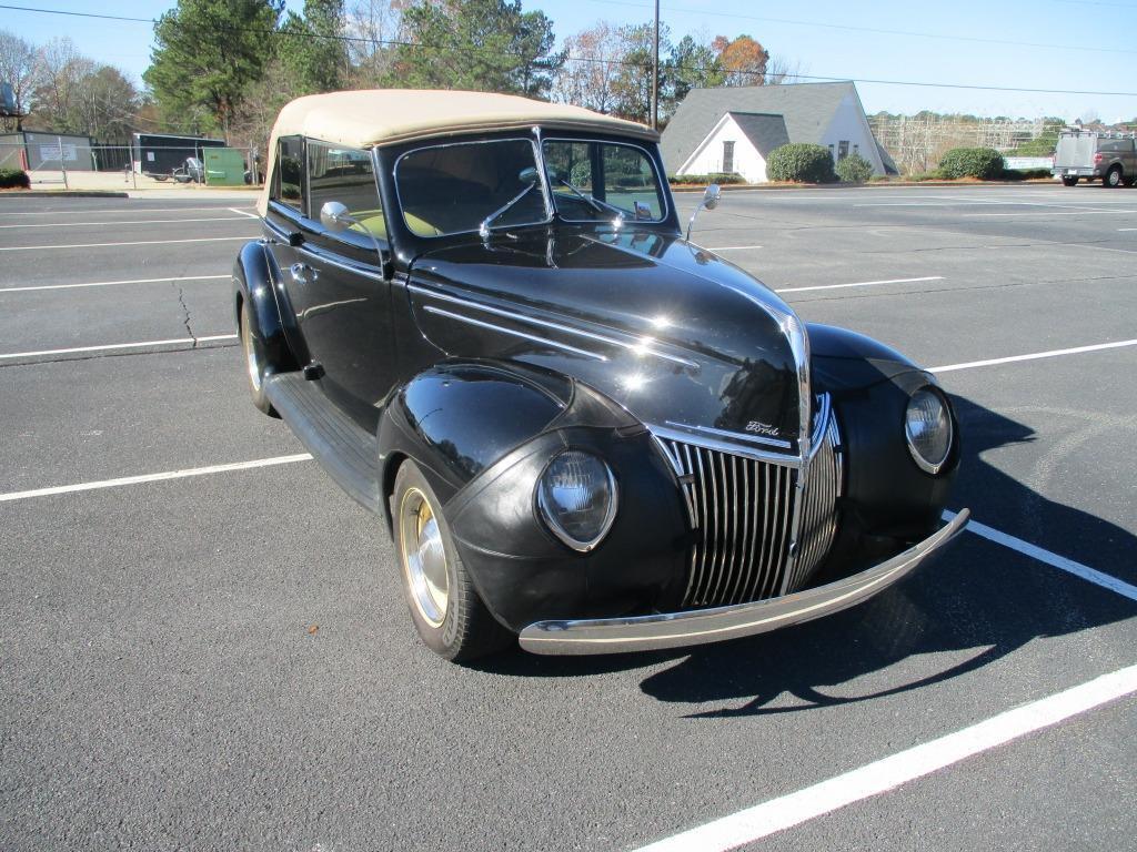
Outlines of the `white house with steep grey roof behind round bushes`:
M833 162L858 153L874 174L897 174L865 117L853 83L692 89L663 132L669 174L766 178L766 158L787 142L829 148Z

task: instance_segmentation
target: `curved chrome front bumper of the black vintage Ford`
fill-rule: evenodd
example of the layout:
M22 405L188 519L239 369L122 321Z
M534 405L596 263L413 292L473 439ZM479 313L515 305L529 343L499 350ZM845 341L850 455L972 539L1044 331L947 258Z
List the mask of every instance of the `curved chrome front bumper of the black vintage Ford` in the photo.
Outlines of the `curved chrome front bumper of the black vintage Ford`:
M537 621L521 632L521 646L538 654L604 654L702 645L753 636L848 609L888 588L943 550L966 525L960 511L919 544L852 577L815 588L733 607L629 618Z

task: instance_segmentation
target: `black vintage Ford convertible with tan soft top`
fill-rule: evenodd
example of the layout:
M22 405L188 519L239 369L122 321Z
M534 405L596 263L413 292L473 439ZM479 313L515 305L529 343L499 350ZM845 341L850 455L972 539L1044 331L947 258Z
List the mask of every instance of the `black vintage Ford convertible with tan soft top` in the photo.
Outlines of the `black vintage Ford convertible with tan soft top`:
M385 519L448 659L818 618L965 523L935 377L684 239L656 142L465 92L313 95L273 130L233 275L252 400Z

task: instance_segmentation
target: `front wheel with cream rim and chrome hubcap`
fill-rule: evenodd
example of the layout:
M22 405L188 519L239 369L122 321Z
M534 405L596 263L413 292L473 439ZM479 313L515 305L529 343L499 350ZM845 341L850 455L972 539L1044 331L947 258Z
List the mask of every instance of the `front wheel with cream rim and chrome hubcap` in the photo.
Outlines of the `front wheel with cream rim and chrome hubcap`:
M455 662L500 650L511 636L474 590L442 507L413 461L395 477L391 513L402 591L426 646Z

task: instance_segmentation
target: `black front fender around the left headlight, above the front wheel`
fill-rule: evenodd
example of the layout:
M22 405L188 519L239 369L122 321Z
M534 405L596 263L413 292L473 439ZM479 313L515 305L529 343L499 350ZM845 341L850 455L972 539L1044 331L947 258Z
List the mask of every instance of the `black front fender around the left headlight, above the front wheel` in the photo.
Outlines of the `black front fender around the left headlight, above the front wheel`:
M616 477L616 519L589 553L558 541L536 508L538 477L566 448ZM422 469L479 594L513 629L650 611L681 594L689 531L674 473L642 425L586 385L513 364L437 365L384 409L379 451L384 494L402 459Z

